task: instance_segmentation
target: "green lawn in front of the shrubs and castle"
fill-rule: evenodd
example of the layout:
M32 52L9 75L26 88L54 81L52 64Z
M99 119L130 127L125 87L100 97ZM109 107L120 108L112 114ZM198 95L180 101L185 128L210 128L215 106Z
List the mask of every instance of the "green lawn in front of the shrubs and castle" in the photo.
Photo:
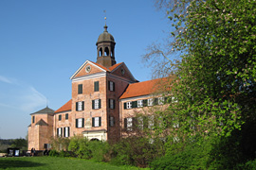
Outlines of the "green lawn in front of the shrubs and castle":
M0 169L52 169L52 170L136 170L140 168L128 166L115 166L105 162L86 161L75 158L55 157L18 157L0 158Z

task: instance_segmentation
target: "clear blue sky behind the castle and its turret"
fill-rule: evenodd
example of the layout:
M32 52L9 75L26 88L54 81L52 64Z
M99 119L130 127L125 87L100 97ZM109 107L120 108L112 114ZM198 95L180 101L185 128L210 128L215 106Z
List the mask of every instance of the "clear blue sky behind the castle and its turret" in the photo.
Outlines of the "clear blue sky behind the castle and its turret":
M0 138L25 138L30 113L59 109L71 99L69 79L96 61L96 42L108 31L117 62L139 80L152 70L141 55L169 26L153 0L0 0Z

